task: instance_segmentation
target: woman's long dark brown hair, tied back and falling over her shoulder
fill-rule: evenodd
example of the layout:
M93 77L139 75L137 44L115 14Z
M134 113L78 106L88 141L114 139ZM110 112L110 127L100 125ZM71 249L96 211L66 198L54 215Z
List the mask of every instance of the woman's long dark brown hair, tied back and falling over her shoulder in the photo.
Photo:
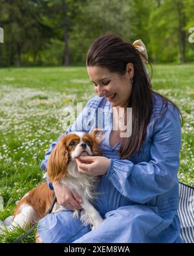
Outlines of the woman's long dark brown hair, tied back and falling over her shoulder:
M122 139L119 149L122 158L132 156L135 152L139 153L146 137L147 125L153 111L151 80L146 75L140 52L133 44L125 42L119 36L105 34L97 38L87 52L87 67L98 65L106 67L112 73L124 75L127 63L132 63L134 67L133 89L127 106L133 108L132 134L131 137ZM161 110L163 106L167 109L168 99L159 93L156 94L162 99ZM175 104L173 105L177 108Z

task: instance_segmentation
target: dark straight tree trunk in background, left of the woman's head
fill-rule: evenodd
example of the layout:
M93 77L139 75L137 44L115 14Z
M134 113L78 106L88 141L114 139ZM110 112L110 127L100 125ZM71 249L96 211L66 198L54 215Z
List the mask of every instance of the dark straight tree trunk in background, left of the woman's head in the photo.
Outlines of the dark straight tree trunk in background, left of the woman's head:
M63 24L64 24L64 65L70 65L69 58L69 34L68 34L68 21L67 21L67 3L63 0Z

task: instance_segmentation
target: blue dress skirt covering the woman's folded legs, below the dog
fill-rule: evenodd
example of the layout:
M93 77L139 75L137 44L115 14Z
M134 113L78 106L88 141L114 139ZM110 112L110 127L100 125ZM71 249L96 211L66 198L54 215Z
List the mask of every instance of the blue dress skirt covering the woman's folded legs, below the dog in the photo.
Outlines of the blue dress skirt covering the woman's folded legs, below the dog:
M73 218L72 211L61 211L41 219L38 233L43 242L175 242L180 234L174 214L163 219L155 210L146 205L120 207L109 211L100 227L92 231Z

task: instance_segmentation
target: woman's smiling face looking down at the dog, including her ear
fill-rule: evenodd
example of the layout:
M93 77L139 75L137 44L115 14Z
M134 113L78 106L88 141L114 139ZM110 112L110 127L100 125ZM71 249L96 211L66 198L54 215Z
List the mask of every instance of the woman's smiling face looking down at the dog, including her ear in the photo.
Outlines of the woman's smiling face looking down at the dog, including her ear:
M127 64L126 73L122 76L97 65L87 67L87 73L99 97L105 97L116 108L127 106L132 90L133 64Z

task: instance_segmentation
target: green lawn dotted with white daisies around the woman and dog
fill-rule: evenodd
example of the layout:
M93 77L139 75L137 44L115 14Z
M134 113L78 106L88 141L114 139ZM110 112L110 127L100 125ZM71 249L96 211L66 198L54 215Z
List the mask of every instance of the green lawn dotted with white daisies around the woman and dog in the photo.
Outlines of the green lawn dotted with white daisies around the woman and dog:
M194 64L154 65L153 89L173 100L184 117L179 180L193 186ZM38 185L44 150L69 126L67 113L95 95L85 67L0 69L0 219L12 215L16 202ZM5 233L0 242L21 235ZM17 235L16 235L17 234ZM23 242L34 242L34 234Z

